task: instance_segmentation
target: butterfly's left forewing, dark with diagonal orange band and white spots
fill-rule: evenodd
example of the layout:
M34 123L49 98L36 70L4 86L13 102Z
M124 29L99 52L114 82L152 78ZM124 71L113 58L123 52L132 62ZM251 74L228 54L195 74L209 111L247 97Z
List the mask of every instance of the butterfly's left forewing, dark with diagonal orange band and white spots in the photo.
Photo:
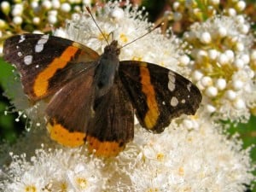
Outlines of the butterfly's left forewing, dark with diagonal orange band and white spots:
M3 58L17 67L32 101L54 94L98 57L82 44L42 34L16 35L3 45Z

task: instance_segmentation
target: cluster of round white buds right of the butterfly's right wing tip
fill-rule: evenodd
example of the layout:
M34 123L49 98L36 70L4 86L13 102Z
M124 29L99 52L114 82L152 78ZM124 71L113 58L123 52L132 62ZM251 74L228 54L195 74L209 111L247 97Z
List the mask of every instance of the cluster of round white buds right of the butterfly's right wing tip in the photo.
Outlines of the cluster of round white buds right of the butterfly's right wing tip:
M218 119L246 122L256 106L253 36L244 16L216 16L185 35L192 52L193 81Z

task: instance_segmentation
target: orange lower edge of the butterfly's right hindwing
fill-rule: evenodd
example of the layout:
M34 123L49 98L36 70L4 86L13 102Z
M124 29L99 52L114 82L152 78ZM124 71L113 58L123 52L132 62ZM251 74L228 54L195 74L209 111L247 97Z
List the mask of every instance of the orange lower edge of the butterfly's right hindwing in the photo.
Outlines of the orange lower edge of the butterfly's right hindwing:
M125 146L119 142L101 142L96 137L86 137L90 152L102 157L116 156Z

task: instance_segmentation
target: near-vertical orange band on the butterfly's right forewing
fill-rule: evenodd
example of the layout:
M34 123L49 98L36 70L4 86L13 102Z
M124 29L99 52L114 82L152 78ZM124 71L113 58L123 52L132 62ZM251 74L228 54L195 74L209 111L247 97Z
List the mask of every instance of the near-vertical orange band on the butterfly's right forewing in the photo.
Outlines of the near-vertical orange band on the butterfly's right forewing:
M147 68L147 63L140 67L141 84L143 93L147 97L148 112L144 117L144 123L148 129L152 129L156 125L159 117L159 108L155 98L154 86L150 82L150 73Z

